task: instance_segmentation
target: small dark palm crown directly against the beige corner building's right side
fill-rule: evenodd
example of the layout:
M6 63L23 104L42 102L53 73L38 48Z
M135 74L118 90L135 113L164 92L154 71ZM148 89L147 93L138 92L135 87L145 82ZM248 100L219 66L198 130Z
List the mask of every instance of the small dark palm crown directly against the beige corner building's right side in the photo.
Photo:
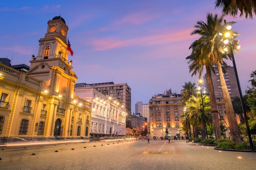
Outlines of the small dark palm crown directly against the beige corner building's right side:
M182 87L183 89L181 90L181 98L183 100L183 105L186 105L186 102L189 100L189 98L196 94L196 87L195 83L191 83L191 81L185 83Z

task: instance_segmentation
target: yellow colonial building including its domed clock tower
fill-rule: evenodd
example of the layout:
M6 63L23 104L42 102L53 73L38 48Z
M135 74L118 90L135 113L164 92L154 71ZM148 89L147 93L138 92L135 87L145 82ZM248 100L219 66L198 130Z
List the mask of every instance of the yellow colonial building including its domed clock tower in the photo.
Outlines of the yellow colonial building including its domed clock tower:
M68 27L60 16L47 24L27 74L0 63L0 137L90 136L91 103L74 94Z

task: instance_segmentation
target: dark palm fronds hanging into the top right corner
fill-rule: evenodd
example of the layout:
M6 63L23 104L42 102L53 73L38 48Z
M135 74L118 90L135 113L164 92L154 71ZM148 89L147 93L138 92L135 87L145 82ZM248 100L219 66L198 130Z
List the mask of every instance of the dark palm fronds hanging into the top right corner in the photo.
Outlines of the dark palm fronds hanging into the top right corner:
M256 2L255 0L216 0L216 7L222 7L222 12L230 14L236 17L238 10L240 11L240 17L245 13L245 18L253 18L256 14Z

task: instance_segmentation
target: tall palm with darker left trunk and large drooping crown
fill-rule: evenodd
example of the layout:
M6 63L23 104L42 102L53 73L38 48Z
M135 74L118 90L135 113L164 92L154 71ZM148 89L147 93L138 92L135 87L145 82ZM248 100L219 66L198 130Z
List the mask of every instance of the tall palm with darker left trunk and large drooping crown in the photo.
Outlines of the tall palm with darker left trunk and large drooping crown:
M192 31L191 35L201 35L201 37L194 41L189 49L192 49L192 53L190 56L186 57L189 65L189 72L193 72L194 74L199 73L199 77L201 77L204 65L206 68L207 74L207 84L209 90L209 96L211 100L211 113L213 116L213 126L214 131L216 133L216 138L220 138L220 126L218 123L218 110L216 105L216 98L213 89L213 83L211 79L211 70L212 65L215 63L213 61L213 50L216 39L218 38L218 33L220 32L221 22L223 20L224 15L218 17L217 14L213 16L212 13L207 14L207 23L203 21L198 21L197 24L194 26L196 29ZM214 72L214 70L213 70Z

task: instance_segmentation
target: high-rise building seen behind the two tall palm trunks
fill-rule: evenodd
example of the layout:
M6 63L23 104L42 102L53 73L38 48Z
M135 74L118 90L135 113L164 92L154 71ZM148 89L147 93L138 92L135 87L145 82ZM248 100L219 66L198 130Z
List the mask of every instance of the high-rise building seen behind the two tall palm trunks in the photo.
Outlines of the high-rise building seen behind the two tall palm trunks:
M220 76L219 76L218 68L217 67L213 67L213 68L215 73L213 71L211 72L211 78L213 81L213 89L214 89L214 94L216 98L217 109L219 112L219 118L222 120L222 123L228 127L227 116L225 114L225 103L224 103L222 90L220 86ZM231 100L236 96L240 98L234 67L227 66L227 67L223 67L223 69L225 70L225 73L223 74L224 74L225 82L226 82ZM206 93L209 94L206 74L204 75L204 86L206 88ZM241 121L239 116L236 115L236 118L239 124Z

